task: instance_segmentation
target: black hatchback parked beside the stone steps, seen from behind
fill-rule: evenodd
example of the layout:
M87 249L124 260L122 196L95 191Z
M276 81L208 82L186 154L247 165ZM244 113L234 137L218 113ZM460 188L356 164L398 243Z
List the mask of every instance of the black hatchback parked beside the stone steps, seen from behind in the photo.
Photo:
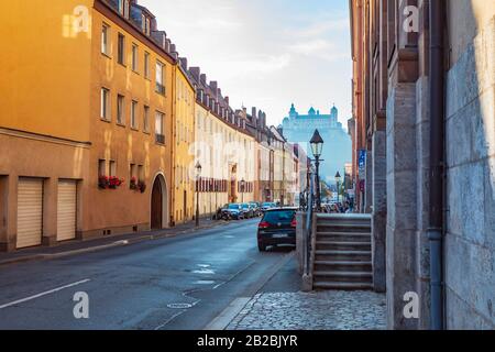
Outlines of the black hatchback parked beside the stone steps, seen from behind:
M275 208L266 210L257 226L257 248L266 251L268 245L296 245L297 208Z

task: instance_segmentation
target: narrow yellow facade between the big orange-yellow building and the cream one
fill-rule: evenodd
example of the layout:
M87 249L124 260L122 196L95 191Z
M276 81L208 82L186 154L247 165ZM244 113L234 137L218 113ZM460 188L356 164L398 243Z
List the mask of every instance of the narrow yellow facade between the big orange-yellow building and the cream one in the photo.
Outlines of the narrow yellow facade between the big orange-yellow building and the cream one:
M187 61L175 66L174 117L174 223L184 223L195 216L195 87L187 74Z

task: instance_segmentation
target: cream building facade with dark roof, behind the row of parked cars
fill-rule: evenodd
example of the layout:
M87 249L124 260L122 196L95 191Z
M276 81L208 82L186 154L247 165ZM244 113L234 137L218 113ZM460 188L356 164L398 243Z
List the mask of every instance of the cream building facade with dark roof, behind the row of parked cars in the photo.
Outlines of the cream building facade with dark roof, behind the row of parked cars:
M190 67L196 87L196 141L201 165L198 175L200 216L211 216L228 202L254 201L254 136L246 129L245 111L234 111L217 81L207 81L199 67Z

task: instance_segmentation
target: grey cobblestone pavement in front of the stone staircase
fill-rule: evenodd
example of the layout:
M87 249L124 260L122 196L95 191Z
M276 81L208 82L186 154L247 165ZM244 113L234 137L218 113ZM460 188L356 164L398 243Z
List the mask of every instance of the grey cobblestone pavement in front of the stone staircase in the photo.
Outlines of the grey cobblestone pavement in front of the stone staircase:
M228 330L384 330L385 295L372 292L263 293Z

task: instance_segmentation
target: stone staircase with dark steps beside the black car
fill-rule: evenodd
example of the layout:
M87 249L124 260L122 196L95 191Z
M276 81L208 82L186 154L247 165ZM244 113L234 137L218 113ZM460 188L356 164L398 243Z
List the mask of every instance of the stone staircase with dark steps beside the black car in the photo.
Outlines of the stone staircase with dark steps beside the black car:
M314 289L373 289L371 217L317 215Z

